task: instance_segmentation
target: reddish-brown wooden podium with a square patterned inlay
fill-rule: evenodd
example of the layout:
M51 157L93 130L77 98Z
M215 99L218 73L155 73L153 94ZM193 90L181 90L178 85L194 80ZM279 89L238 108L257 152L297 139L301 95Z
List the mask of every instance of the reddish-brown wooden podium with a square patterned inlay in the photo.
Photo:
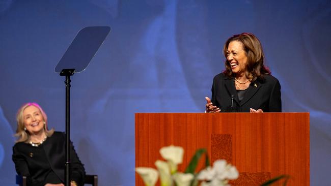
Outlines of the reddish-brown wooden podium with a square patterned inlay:
M155 168L159 149L172 144L185 150L179 171L206 148L211 163L225 159L237 167L231 185L260 185L281 174L290 176L287 185L310 184L309 113L135 114L136 167ZM144 185L137 174L135 180Z

